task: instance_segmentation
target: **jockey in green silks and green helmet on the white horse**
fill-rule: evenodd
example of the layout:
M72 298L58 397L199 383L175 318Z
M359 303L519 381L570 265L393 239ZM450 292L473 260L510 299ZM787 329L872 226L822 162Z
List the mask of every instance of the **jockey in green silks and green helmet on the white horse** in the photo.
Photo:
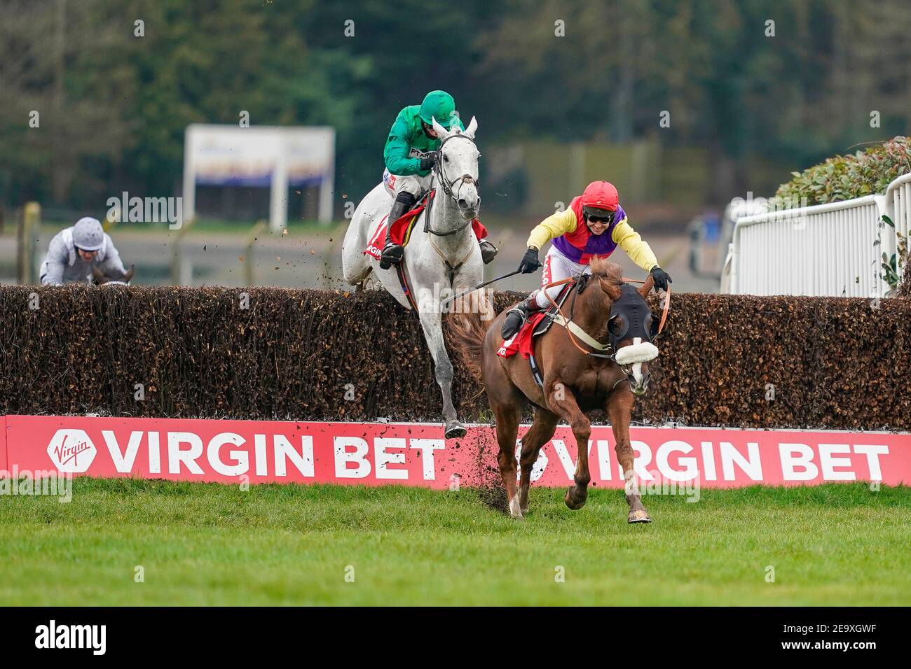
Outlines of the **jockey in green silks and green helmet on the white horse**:
M380 260L383 269L398 265L404 256L404 248L389 236L393 223L411 211L417 198L430 189L436 150L441 144L433 128L433 119L447 130L454 124L465 129L455 112L453 96L445 91L430 91L420 105L406 106L399 112L386 139L383 183L395 201L386 218L386 240ZM487 264L496 256L496 247L486 239L478 241L481 257Z

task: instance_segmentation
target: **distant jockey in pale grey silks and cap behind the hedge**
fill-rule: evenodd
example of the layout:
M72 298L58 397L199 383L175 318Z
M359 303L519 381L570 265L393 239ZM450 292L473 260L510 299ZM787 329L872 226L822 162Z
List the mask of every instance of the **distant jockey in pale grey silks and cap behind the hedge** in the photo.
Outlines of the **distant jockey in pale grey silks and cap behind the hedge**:
M76 225L58 232L41 263L41 284L90 283L92 268L111 277L123 277L127 270L114 242L97 218L79 218Z

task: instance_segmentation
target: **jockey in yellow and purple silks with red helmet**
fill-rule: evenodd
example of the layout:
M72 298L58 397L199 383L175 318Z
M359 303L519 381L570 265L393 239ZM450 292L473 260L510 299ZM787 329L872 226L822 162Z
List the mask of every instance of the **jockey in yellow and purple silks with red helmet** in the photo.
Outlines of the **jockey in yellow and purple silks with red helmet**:
M504 340L515 335L528 314L550 304L548 294L556 299L563 286L543 289L552 281L590 273L589 259L607 258L617 247L626 251L640 268L651 272L655 289L667 290L670 276L658 267L658 260L639 233L630 227L626 212L619 204L617 188L607 181L592 181L582 195L573 198L565 211L558 211L541 221L528 236L525 256L518 269L523 274L541 267L537 253L553 239L544 259L541 275L542 289L536 290L513 309L503 321Z

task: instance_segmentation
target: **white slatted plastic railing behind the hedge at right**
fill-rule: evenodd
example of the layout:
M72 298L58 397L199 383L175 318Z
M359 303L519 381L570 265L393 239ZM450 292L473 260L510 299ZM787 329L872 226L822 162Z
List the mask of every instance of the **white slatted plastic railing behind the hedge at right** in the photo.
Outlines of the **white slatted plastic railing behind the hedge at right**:
M885 225L883 215L895 223ZM722 292L736 295L882 297L882 255L911 230L911 174L883 195L736 218ZM877 243L878 240L878 243ZM898 254L901 257L901 254ZM899 259L897 273L904 267Z

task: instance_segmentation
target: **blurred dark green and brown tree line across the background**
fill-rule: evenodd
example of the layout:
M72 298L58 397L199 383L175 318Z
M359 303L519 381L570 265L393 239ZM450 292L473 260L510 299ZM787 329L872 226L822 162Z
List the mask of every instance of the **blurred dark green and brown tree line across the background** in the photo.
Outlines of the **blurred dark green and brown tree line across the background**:
M177 194L185 127L241 110L336 127L337 202L356 201L395 114L433 88L478 118L482 152L529 138L707 149L704 200L722 203L752 188L753 159L786 163L786 181L908 134L911 109L905 0L0 0L0 16L11 207Z

